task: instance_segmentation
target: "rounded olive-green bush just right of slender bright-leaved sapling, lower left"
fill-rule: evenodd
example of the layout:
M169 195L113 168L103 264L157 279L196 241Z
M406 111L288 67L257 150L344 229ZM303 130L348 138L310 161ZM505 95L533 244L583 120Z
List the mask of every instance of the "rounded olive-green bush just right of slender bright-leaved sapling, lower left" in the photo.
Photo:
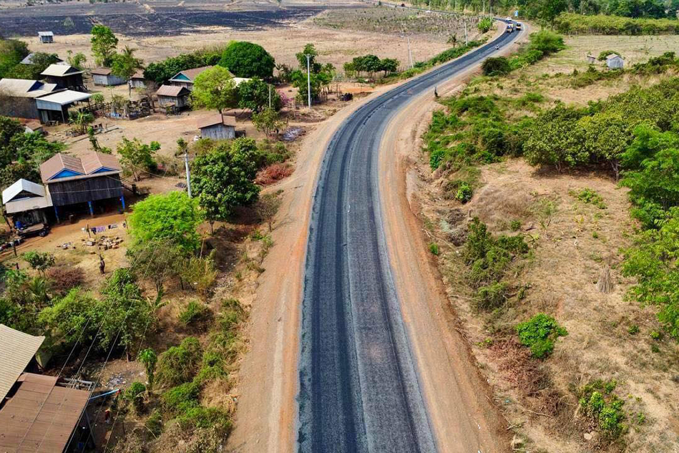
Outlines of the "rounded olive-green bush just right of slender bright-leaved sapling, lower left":
M201 348L197 339L189 336L158 356L156 381L164 386L177 386L193 379L200 363Z

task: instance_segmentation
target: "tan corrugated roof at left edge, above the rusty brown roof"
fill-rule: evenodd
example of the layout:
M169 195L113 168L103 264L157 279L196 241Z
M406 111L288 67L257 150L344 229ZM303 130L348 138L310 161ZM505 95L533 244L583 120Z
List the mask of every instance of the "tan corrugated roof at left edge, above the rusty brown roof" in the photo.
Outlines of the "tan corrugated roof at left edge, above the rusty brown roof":
M43 341L44 336L24 334L0 324L0 401L7 396ZM1 422L0 426L4 428Z

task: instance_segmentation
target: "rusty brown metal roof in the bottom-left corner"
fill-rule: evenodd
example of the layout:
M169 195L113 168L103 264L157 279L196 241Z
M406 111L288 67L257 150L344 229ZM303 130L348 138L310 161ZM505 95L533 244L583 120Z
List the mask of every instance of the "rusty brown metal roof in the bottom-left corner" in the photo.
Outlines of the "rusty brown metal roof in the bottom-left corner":
M58 386L55 376L23 373L17 382L0 409L0 452L62 452L90 393Z

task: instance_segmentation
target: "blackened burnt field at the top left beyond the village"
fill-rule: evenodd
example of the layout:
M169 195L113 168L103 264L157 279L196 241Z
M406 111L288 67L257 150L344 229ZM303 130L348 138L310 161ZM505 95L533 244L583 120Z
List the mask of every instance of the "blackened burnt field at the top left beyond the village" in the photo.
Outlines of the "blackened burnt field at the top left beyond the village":
M127 36L176 36L207 27L228 27L258 31L287 27L318 14L325 7L300 5L251 11L219 11L181 6L144 7L133 3L71 3L3 10L0 30L5 37L36 36L51 30L56 35L89 33L95 24L110 27Z

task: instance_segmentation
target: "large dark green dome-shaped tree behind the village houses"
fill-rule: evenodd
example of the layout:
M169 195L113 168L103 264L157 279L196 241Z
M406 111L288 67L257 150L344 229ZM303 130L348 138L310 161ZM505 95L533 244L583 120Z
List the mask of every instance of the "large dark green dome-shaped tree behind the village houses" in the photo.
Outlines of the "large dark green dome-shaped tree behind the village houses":
M236 77L268 79L274 75L276 62L261 45L247 41L231 41L222 53L219 66Z

